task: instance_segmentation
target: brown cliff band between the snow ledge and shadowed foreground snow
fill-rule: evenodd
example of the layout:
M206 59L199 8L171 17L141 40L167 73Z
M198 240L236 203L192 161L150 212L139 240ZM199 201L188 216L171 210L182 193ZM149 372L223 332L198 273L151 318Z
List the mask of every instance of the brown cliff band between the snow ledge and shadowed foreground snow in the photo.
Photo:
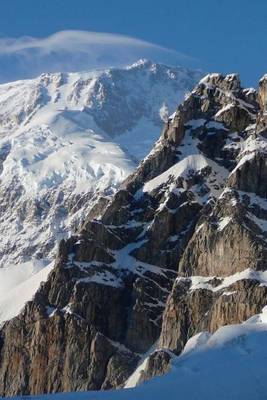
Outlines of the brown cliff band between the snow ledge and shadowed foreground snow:
M204 282L206 287L194 288L191 278L177 279L164 312L160 347L179 354L194 334L243 322L266 305L267 288L260 281L240 280L222 289L220 279Z

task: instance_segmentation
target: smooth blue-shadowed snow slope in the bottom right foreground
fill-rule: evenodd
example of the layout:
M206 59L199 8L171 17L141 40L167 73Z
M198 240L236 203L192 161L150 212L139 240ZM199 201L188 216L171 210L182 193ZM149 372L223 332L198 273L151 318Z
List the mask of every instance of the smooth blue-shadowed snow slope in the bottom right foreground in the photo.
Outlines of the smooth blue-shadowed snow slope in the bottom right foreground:
M240 325L191 338L171 371L136 388L31 396L40 400L264 400L267 309ZM23 398L27 399L27 396Z

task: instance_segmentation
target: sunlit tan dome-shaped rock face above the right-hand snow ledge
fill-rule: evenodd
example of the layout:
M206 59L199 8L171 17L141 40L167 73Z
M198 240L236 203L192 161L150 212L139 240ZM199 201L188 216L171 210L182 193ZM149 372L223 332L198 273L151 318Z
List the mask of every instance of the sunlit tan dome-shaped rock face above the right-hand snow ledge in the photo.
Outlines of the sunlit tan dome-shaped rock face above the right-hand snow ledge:
M230 193L228 200L223 196L198 225L181 257L181 275L227 276L247 268L266 269L266 233L253 220L253 206L234 201Z

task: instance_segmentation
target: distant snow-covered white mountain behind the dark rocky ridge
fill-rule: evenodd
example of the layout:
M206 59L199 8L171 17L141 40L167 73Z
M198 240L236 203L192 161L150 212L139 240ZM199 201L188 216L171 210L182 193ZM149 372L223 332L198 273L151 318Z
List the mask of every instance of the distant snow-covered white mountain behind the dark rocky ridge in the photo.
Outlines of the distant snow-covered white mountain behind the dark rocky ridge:
M113 193L200 75L140 60L0 85L0 266L31 261L31 275L47 264L81 208Z

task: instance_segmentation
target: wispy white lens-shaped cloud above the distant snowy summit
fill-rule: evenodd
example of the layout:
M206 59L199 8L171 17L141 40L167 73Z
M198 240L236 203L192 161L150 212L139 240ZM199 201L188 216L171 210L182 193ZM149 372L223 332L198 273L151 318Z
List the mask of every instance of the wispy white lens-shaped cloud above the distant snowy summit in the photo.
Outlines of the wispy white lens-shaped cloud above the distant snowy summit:
M189 57L128 36L62 31L46 38L1 38L0 82L31 78L43 72L71 72L122 66L139 58L183 63Z

